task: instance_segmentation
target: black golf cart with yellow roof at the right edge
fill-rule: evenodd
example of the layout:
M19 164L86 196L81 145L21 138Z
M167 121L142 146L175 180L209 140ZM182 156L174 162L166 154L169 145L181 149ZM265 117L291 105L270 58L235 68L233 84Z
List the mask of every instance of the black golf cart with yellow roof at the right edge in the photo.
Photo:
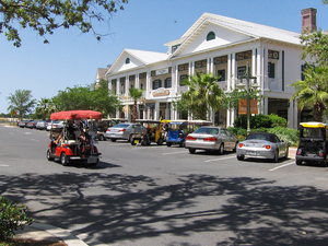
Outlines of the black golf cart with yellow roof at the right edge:
M328 125L323 122L301 122L296 165L318 163L327 166Z

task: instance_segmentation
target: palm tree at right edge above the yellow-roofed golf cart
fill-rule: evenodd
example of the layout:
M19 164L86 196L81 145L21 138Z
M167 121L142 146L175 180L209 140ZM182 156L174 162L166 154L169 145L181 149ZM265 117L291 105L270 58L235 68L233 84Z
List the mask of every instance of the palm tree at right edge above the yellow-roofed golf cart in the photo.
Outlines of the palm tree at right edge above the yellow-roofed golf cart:
M291 101L296 99L298 108L313 109L315 121L323 121L324 112L328 99L328 67L319 66L313 69L307 63L307 69L303 72L305 79L298 80L291 86L295 87L295 93Z

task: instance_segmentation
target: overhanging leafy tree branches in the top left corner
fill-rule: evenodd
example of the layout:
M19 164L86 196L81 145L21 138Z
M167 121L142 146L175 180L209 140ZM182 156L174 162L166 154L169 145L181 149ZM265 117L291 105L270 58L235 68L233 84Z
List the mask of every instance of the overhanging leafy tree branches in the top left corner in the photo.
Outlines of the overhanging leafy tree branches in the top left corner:
M44 37L44 43L48 43L47 34L71 26L77 26L82 33L92 31L101 39L103 35L94 30L93 21L105 21L102 11L109 20L113 13L124 10L125 3L128 0L0 0L0 33L4 32L7 39L14 42L16 47L21 46L22 39L15 25L31 27Z

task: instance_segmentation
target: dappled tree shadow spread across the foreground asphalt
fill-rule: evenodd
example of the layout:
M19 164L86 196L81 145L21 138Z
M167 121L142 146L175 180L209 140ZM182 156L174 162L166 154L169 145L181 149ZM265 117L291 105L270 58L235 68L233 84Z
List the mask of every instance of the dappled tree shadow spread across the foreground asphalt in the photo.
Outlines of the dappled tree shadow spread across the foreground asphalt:
M282 187L263 178L201 174L180 176L165 186L145 175L104 173L30 173L0 175L0 180L4 184L1 194L34 204L31 215L38 222L62 229L81 224L83 229L74 233L94 234L107 244L167 234L187 241L202 232L230 232L218 236L216 245L328 242L328 194L311 186ZM98 195L97 189L103 192ZM203 198L222 202L199 206ZM48 216L49 212L56 215Z

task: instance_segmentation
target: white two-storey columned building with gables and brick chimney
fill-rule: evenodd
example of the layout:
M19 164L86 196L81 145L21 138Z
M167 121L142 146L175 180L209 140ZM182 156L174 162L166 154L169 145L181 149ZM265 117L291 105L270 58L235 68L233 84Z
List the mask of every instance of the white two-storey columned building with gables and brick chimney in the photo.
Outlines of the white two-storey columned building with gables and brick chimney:
M316 30L316 10L302 11L302 26ZM302 27L302 28L303 28ZM218 83L224 89L235 87L246 63L257 78L263 101L259 113L285 117L289 127L297 128L297 108L290 103L293 87L301 79L300 33L204 13L176 40L165 44L167 52L125 49L107 69L109 90L119 95L124 105L132 105L128 87L144 89L144 104L139 118L178 119L172 102L188 90L180 81L195 71L221 75ZM246 83L246 81L244 81ZM129 107L116 117L130 119ZM232 126L237 112L220 109L209 116L215 125Z

